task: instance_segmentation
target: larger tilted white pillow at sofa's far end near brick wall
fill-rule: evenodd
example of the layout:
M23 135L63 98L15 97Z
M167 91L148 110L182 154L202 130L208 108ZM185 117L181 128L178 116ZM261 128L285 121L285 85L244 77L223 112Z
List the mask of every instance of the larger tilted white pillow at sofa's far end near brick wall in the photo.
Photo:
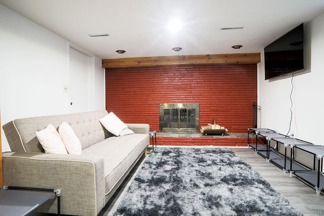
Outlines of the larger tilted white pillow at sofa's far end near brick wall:
M100 118L99 121L102 125L115 136L119 136L120 132L123 129L127 128L127 125L121 121L113 112L110 112L103 118Z

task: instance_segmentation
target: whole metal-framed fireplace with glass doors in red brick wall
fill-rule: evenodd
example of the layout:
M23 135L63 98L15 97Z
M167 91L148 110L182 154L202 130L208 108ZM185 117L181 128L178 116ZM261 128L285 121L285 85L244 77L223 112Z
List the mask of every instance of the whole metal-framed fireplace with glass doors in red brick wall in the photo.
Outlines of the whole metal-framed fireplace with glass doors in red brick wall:
M199 104L160 104L159 118L160 133L199 133Z

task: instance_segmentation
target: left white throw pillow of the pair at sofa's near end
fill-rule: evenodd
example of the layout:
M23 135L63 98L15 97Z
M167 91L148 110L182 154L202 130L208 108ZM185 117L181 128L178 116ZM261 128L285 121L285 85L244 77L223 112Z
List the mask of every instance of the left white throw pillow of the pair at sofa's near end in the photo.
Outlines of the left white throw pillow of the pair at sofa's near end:
M52 124L36 132L36 137L46 153L67 154L63 141Z

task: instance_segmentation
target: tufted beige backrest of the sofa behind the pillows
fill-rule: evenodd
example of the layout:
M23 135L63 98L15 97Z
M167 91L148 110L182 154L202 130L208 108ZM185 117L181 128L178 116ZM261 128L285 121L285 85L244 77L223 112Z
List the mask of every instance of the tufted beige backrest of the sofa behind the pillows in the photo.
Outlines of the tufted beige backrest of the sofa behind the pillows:
M85 149L109 137L109 133L99 121L100 118L107 114L106 110L97 110L64 115L20 118L3 125L3 129L11 151L44 152L35 132L41 131L49 123L58 128L65 121L72 127L75 135L80 140L82 149Z

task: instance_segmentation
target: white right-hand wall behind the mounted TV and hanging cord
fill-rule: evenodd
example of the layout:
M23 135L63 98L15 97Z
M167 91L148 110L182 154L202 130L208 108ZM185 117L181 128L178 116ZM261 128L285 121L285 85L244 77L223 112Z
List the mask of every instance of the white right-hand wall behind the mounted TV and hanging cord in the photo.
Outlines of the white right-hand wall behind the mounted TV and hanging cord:
M273 81L264 80L264 54L259 63L258 105L261 106L261 127L273 129L281 134L289 132L291 119L292 83L292 123L290 134L297 139L324 145L323 105L324 105L324 14L304 23L305 29L305 72L294 77L286 76Z

